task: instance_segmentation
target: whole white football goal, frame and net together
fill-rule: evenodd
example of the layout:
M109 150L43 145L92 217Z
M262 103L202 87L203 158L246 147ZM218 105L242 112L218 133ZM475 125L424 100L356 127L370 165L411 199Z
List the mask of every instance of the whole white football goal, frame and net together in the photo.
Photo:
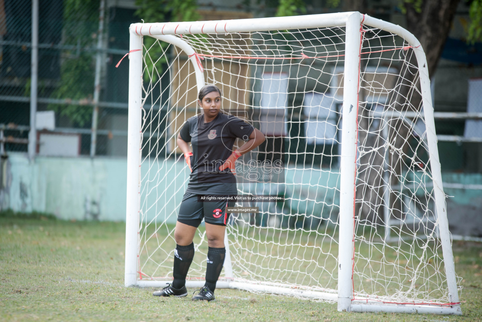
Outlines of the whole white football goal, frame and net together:
M214 83L226 112L268 138L243 165L272 170L282 156L278 181L237 170L239 195L284 196L231 215L217 288L461 314L427 62L411 33L358 12L129 30L126 286L172 281L188 180L175 137ZM187 287L204 284L206 241L200 229Z

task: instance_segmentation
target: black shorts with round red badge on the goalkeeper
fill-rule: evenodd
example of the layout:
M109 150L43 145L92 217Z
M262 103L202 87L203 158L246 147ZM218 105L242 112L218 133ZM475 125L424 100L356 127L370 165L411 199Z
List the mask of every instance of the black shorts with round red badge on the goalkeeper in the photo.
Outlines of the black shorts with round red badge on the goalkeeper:
M204 218L208 224L226 226L229 218L226 207L234 207L235 204L235 201L228 200L198 201L197 194L186 192L182 198L177 220L182 223L198 221L199 225Z

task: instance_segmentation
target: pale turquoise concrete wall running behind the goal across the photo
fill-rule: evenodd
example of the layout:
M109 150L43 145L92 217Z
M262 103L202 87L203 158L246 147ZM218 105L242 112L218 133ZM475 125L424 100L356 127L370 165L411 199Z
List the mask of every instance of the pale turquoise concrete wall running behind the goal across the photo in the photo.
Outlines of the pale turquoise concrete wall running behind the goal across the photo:
M30 162L25 154L10 153L8 158L2 159L0 166L0 209L46 212L62 219L123 221L126 214L126 169L127 161L123 158L37 157ZM184 162L144 161L141 174L147 171L151 183L141 194L145 221L158 216L158 220L175 222L175 205L182 200L187 183ZM304 200L291 201L288 206L292 211L321 214L324 219L336 220L339 202L337 173L320 169L285 171L286 195ZM482 174L444 173L442 180L444 183L482 185ZM245 188L256 194L281 191L273 184ZM482 237L482 191L446 188L445 193L451 196L447 198L451 232ZM146 201L144 196L147 196ZM264 209L266 207L276 207L271 203L259 206L265 211L268 211Z

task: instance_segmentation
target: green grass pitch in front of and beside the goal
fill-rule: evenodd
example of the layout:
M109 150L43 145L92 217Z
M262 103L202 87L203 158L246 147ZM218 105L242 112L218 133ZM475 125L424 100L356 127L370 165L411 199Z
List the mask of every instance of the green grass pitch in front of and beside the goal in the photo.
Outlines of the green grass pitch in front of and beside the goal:
M1 321L482 321L482 244L454 242L463 316L337 312L336 304L216 290L216 301L124 287L124 223L0 215ZM189 291L194 291L193 289Z

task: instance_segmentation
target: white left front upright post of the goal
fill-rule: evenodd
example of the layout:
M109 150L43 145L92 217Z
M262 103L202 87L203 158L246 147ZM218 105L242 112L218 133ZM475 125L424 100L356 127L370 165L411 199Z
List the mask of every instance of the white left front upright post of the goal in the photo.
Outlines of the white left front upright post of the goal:
M124 285L137 283L141 164L142 37L130 30Z

